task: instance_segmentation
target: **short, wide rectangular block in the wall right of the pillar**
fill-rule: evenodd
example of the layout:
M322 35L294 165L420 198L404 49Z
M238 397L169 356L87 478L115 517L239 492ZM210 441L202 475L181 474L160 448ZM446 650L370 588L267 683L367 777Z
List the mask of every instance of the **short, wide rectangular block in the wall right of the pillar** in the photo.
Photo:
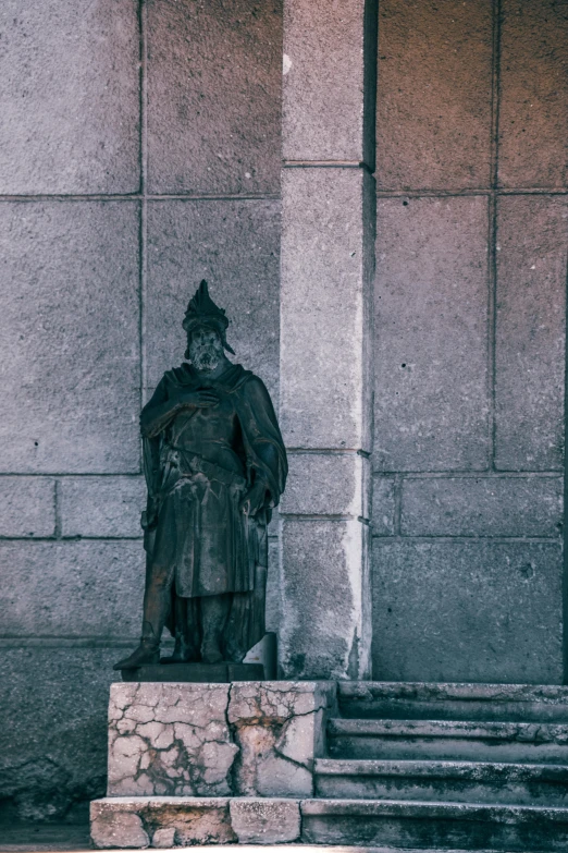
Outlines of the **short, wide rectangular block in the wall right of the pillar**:
M563 527L560 477L405 478L408 536L554 536Z

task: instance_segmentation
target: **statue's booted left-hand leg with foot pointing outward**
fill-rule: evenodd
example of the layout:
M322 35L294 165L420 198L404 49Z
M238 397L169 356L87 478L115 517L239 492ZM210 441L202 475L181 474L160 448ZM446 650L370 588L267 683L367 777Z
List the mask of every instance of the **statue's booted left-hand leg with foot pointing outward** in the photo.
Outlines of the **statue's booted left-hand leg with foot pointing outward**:
M114 669L135 669L160 662L160 639L171 606L172 572L162 565L149 564L144 593L144 617L140 645Z

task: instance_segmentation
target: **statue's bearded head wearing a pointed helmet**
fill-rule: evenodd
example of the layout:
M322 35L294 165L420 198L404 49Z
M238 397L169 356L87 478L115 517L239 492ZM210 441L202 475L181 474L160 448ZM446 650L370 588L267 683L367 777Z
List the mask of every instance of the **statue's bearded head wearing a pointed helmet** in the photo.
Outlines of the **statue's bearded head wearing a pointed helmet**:
M187 306L183 326L187 332L185 357L198 370L214 370L223 350L234 354L225 337L229 319L210 297L205 279Z

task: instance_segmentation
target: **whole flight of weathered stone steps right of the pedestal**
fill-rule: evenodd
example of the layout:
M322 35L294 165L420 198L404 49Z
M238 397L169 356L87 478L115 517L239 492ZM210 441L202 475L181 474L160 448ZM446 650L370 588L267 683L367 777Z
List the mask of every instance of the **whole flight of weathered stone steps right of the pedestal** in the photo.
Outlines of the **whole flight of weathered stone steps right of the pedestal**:
M302 841L568 851L568 690L338 684Z

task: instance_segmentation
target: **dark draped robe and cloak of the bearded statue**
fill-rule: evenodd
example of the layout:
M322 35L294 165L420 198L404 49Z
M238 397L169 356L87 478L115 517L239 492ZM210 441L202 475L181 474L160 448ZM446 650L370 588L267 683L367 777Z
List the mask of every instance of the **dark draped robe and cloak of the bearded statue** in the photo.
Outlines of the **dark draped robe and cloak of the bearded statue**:
M219 403L183 409L144 439L148 570L166 569L166 624L186 659L199 657L198 599L233 594L224 646L230 659L242 660L264 634L267 525L284 490L286 453L264 385L240 365L207 380L189 364L169 370L148 409L200 388L212 389ZM250 517L238 504L258 479L264 500Z

